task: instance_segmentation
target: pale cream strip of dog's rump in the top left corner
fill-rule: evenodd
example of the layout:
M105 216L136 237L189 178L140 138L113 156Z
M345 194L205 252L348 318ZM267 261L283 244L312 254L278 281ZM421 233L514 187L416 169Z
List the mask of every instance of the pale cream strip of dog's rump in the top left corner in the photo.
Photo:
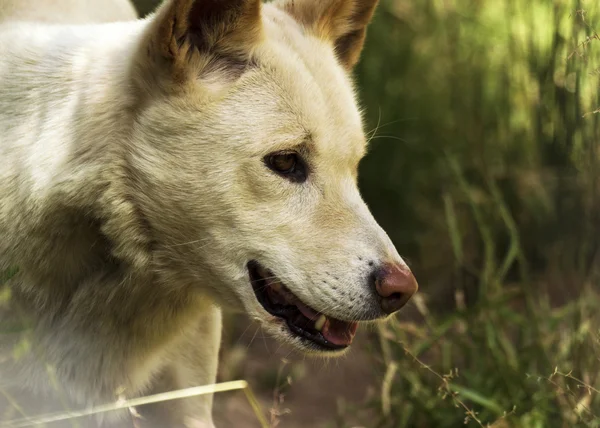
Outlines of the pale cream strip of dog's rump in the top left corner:
M137 13L129 0L0 0L0 23L85 24L136 18Z

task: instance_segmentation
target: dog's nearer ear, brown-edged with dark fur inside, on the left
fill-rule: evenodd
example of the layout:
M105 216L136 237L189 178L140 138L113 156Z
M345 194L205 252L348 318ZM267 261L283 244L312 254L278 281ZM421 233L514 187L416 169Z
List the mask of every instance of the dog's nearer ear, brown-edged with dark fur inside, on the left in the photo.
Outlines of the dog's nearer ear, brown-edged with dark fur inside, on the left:
M215 63L239 70L262 37L261 0L166 0L152 20L146 53L175 81Z

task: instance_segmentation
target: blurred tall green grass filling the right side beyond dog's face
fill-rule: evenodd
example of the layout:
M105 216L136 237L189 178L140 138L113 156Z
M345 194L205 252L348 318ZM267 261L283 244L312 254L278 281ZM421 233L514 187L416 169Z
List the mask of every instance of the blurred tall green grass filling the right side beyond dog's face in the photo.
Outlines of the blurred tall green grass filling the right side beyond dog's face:
M384 2L363 187L422 293L373 342L365 426L600 426L598 12Z

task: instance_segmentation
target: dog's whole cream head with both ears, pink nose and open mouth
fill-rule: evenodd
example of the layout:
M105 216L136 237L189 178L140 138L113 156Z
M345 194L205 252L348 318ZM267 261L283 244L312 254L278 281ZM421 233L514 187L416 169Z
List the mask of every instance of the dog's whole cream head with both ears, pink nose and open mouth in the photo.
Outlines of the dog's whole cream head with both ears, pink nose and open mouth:
M163 258L304 350L417 283L357 188L350 73L377 0L172 0L132 67L137 197Z

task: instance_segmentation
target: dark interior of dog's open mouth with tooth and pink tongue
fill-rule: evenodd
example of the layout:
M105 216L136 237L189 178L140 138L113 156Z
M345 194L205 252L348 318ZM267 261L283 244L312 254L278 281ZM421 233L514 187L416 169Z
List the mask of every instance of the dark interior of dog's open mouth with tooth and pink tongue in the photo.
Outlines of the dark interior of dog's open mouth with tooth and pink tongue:
M350 346L358 323L328 317L305 305L271 271L256 261L248 263L248 272L260 304L268 313L284 320L294 336L326 351Z

